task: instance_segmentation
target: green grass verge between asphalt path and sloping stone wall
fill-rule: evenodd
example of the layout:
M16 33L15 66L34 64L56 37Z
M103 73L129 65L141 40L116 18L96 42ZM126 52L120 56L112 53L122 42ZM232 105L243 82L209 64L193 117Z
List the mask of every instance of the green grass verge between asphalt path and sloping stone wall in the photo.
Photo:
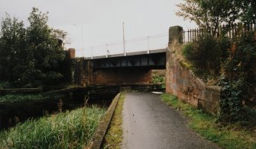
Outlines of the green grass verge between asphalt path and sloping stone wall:
M256 148L256 130L248 131L238 125L219 125L215 117L183 103L177 97L162 94L162 100L168 106L182 111L190 118L189 127L209 141L225 148Z

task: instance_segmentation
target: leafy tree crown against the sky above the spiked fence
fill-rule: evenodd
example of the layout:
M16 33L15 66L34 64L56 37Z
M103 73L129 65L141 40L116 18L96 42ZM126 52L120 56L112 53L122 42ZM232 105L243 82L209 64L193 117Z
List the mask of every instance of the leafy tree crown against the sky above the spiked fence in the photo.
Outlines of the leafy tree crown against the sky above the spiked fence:
M185 0L178 5L177 15L212 30L214 35L221 24L233 23L238 18L239 8L234 3L234 0Z

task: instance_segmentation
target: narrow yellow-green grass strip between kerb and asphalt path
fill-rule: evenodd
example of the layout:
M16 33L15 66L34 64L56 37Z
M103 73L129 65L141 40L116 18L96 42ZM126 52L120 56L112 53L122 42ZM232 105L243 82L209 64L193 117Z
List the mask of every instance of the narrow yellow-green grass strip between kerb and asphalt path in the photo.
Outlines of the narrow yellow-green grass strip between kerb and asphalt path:
M109 130L105 135L104 148L121 148L122 143L122 109L125 100L125 94L122 93L118 100L118 105L115 108L114 116L110 123Z

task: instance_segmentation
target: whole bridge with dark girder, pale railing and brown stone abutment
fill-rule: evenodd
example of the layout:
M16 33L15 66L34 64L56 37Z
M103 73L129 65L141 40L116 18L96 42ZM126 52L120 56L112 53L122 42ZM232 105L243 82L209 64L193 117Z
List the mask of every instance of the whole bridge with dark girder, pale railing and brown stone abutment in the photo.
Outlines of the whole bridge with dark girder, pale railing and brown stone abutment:
M182 30L182 27L170 27L169 38L166 34L155 37L165 37L165 39L162 39L164 43L157 42L154 46L149 42L154 36L147 36L147 38L127 41L128 43L134 41L134 46L125 46L125 43L119 45L119 50L116 52L112 52L115 50L110 48L111 44L106 44L107 46L102 52L98 52L98 55L76 56L73 83L82 86L151 84L151 70L166 68L167 46L173 38L181 35ZM144 45L144 50L134 50L138 41L147 43ZM143 44L138 43L138 46L140 45ZM93 49L97 50L95 47ZM74 55L71 52L74 51L70 51L70 55Z

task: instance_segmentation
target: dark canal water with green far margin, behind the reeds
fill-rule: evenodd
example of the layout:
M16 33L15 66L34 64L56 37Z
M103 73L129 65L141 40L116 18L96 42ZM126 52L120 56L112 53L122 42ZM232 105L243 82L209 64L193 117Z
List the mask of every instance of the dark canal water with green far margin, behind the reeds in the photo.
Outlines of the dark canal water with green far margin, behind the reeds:
M0 130L27 119L38 119L83 106L107 109L118 91L64 89L45 94L4 94L0 97Z

